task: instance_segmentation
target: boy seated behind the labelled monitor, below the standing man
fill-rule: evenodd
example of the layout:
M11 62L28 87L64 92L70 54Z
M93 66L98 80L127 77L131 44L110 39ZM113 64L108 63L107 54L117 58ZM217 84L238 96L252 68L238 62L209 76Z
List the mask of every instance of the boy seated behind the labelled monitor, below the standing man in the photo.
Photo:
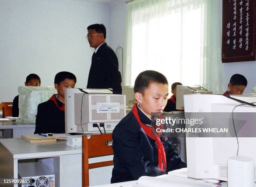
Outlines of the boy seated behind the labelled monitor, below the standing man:
M54 87L58 94L38 105L36 115L36 130L39 133L65 133L64 91L74 88L77 78L73 73L61 71L54 78Z

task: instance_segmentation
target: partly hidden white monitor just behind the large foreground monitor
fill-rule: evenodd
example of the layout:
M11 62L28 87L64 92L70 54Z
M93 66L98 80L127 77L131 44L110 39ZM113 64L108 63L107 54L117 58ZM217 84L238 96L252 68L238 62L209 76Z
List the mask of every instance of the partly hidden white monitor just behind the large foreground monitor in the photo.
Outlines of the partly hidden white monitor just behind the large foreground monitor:
M212 94L212 91L208 91L201 86L184 86L184 85L177 85L176 88L177 95L176 95L176 109L177 110L184 110L184 99L183 96L187 94Z

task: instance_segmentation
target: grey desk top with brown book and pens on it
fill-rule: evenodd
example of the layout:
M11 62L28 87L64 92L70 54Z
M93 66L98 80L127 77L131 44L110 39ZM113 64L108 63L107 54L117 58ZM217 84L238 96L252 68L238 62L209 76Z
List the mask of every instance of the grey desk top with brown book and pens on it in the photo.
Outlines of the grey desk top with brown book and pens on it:
M0 144L8 150L13 159L82 154L82 147L68 147L66 140L57 140L56 142L30 143L21 138L16 138L0 139Z

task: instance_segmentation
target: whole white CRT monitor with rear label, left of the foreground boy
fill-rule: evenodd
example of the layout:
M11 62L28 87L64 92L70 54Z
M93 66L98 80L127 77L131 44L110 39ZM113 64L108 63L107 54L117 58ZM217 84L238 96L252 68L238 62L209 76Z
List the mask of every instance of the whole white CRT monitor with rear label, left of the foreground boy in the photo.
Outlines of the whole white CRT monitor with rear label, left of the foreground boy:
M125 95L108 89L65 90L66 133L111 132L125 115Z

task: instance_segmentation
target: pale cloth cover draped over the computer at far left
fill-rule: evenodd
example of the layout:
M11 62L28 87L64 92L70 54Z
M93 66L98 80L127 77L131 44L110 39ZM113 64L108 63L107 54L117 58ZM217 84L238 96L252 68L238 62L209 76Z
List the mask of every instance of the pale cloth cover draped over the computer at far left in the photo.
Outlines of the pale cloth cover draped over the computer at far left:
M16 121L36 123L37 106L57 93L54 87L19 86L19 116Z

